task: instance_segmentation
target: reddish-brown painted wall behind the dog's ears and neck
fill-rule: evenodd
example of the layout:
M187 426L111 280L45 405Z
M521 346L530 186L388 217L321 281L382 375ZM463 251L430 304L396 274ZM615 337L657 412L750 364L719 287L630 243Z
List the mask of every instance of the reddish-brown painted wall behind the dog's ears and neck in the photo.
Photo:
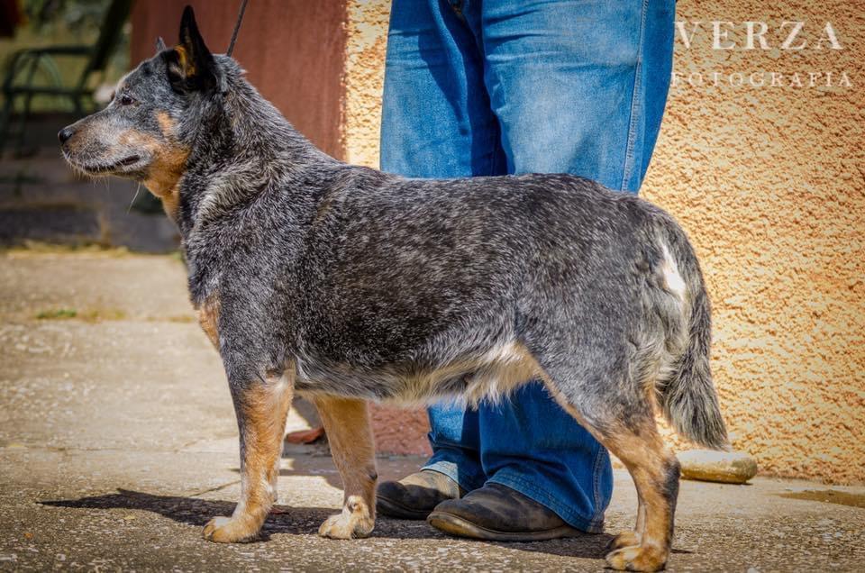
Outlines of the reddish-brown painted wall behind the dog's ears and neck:
M132 63L149 58L157 36L178 41L187 2L139 0L132 11ZM188 2L210 50L228 48L241 0ZM345 58L345 5L341 0L250 0L234 57L288 121L338 158L341 75Z

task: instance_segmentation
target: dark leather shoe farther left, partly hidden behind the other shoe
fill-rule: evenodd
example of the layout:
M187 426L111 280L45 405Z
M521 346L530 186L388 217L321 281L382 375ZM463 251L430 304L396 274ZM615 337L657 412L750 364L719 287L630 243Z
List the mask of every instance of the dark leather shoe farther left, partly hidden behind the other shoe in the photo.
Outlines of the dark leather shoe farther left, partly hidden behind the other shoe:
M432 509L462 494L457 482L432 469L378 485L376 511L399 519L426 519Z

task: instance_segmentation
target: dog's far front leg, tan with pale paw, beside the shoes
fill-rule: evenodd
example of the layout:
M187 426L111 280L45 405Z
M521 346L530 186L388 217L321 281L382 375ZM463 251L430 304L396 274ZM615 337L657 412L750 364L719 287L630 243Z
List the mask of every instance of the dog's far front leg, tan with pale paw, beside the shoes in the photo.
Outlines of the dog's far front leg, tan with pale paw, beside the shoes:
M342 513L322 523L318 534L333 539L366 537L376 523L376 448L363 400L314 398L344 491Z

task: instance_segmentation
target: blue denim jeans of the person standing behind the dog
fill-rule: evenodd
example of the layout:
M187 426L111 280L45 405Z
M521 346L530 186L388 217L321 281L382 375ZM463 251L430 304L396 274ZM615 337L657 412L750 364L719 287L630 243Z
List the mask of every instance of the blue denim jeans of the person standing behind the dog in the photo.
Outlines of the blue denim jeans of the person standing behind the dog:
M636 193L667 99L674 0L394 0L381 168L407 177L568 172ZM539 382L502 405L429 409L432 458L587 532L609 454Z

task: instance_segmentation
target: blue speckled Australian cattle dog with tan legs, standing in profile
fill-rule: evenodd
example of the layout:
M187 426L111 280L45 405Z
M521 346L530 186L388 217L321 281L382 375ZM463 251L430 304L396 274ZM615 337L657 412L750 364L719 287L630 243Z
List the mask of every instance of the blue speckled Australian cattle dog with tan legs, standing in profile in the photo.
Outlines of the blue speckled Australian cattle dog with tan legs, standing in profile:
M375 521L368 401L472 405L540 379L636 485L609 565L665 566L679 467L655 412L727 443L706 286L669 214L570 175L411 179L332 159L207 50L188 7L178 45L159 41L59 139L72 166L140 181L178 225L240 428L241 499L206 539L259 534L294 393L318 406L345 490L319 532L349 539Z

